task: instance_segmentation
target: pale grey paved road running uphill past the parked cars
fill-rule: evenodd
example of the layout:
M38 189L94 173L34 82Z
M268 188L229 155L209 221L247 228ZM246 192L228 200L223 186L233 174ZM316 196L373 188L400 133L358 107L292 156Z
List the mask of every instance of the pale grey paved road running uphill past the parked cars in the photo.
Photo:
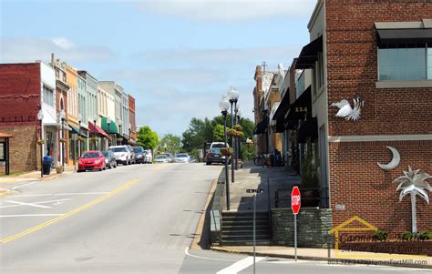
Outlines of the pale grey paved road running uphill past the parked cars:
M0 198L0 273L177 273L220 170L134 165L17 188Z

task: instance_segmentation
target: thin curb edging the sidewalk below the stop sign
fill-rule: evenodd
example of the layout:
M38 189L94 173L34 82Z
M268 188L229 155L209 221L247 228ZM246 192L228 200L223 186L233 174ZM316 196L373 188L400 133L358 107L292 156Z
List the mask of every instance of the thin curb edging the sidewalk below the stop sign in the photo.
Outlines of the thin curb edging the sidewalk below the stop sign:
M236 251L236 250L231 250L231 249L221 249L219 247L211 247L211 250L217 251L217 252L230 253L230 254L244 254L244 255L253 256L252 251ZM255 255L260 256L260 257L294 259L294 256L289 255L289 254L273 254L273 253L266 253L266 252L260 252L260 251L256 251ZM323 257L302 256L302 255L297 255L297 259L327 261L327 262L329 262L329 260L333 259L335 261L346 262L347 265L349 265L349 263L362 265L362 263L356 263L356 262L359 260L360 261L367 261L367 259L339 259L339 258L330 258L329 259L329 258L323 258ZM373 260L370 260L370 261L373 262ZM335 263L334 265L337 265L337 263ZM392 263L386 262L386 261L379 261L379 263L376 263L376 264L375 263L370 263L370 264L363 263L363 265L389 266L389 267L394 267L394 268L409 268L409 269L432 269L432 265L415 265L415 264L403 264L403 263L392 264Z

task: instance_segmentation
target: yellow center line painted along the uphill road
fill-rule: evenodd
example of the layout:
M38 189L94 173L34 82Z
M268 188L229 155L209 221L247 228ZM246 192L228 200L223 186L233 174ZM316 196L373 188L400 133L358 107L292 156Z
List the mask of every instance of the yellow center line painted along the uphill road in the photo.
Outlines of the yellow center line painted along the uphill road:
M57 223L57 221L59 221L59 220L71 217L71 216L77 214L78 212L80 212L82 210L85 210L87 208L93 207L94 205L100 203L101 201L104 201L104 200L110 198L111 196L114 196L114 195L118 194L118 192L123 191L123 190L131 187L132 185L136 184L138 181L139 181L138 178L132 178L128 182L126 182L125 184L123 184L122 186L120 186L120 187L118 187L118 188L116 188L116 189L108 192L106 195L104 195L104 196L102 196L100 198L92 200L91 202L89 202L89 203L87 203L87 204L85 204L85 205L83 205L83 206L81 206L79 208L72 209L69 212L67 212L66 214L62 215L62 216L59 216L57 218L49 219L46 222L44 222L42 224L39 224L39 225L37 225L37 226L35 226L33 228L28 228L28 229L26 229L26 230L24 230L22 232L16 233L15 235L9 236L7 238L3 238L3 239L0 240L0 243L5 244L5 243L10 242L12 240L15 240L17 238L25 237L26 235L28 235L28 234L30 234L32 232L35 232L35 231L37 231L39 229L46 228L46 227L48 227L48 226L50 226L50 225L52 225L54 223Z

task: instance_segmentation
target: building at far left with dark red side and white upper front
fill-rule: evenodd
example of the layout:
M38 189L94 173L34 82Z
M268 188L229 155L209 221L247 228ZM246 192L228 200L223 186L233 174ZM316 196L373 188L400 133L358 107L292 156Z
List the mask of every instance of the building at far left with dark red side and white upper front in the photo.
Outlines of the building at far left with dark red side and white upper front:
M56 116L56 76L43 63L0 65L0 131L12 134L10 139L11 172L36 170L40 167L38 112L42 109L43 152L56 157L58 152Z

